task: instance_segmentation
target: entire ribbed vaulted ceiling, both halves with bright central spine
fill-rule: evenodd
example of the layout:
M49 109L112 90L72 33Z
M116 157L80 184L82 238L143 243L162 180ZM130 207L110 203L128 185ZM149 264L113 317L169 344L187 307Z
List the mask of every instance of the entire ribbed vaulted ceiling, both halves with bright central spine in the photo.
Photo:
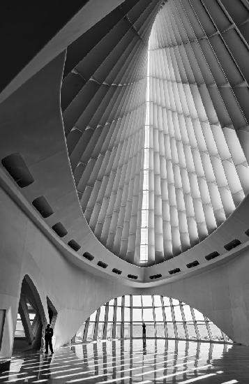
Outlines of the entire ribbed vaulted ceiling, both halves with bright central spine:
M202 241L249 189L248 3L161 4L124 1L70 45L61 89L82 211L136 265Z

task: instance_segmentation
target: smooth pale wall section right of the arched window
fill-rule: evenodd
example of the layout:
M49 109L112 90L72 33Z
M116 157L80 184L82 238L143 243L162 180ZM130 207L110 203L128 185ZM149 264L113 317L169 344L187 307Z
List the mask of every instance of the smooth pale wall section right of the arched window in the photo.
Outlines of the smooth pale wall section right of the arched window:
M233 341L249 345L249 251L153 293L182 300L204 313ZM144 293L152 293L151 289Z

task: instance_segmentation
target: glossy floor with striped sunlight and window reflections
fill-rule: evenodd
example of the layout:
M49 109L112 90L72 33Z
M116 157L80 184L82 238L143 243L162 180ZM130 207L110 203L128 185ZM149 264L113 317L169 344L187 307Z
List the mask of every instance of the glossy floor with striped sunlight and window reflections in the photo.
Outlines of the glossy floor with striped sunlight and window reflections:
M1 365L0 365L1 367ZM249 347L150 339L13 356L0 383L249 383Z

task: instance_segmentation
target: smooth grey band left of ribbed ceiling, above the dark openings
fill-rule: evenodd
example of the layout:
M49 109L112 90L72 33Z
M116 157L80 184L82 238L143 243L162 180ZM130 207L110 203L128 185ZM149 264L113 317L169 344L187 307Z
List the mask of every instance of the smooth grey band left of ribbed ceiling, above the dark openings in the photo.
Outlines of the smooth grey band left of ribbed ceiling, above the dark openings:
M135 274L142 281L143 269L113 258L112 252L93 235L82 214L61 116L60 91L65 56L66 52L59 54L0 104L0 160L15 152L22 156L34 182L19 192L30 205L38 196L45 196L54 213L43 221L50 227L57 222L65 226L68 234L62 242L67 244L75 239L82 247L78 252L80 256L83 249L96 256L92 265L103 260L109 265L107 273L113 275L112 268L116 267L123 271L123 275ZM1 172L8 175L0 163ZM9 175L8 178L11 179Z

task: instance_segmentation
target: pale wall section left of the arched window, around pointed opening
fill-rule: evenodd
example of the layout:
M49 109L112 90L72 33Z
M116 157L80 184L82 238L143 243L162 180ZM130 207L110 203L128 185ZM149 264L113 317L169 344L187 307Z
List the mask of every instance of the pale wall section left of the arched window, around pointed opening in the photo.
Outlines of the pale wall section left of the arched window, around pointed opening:
M0 309L6 309L1 356L10 356L22 279L33 281L47 313L47 296L58 311L56 346L68 342L80 325L111 297L133 293L118 279L89 274L61 256L37 226L0 190Z

